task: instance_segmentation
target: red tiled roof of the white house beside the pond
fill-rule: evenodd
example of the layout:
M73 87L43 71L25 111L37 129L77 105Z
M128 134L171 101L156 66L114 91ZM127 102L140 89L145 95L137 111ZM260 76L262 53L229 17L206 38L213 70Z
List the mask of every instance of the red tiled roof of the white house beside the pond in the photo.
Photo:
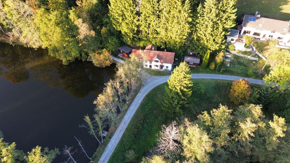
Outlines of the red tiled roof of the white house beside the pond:
M143 53L147 57L147 61L153 62L153 59L157 58L160 60L160 63L173 64L174 54L172 52L156 51L156 50L140 50L133 49L132 53L135 53L137 58L142 58Z

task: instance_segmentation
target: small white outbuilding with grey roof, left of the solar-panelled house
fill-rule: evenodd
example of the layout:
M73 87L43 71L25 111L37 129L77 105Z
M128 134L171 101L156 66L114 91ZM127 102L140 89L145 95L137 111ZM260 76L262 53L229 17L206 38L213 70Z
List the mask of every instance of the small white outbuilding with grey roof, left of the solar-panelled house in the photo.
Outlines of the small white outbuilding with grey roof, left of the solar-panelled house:
M238 30L230 29L230 33L227 35L227 42L232 43L236 50L243 50L245 46L245 39L239 35Z

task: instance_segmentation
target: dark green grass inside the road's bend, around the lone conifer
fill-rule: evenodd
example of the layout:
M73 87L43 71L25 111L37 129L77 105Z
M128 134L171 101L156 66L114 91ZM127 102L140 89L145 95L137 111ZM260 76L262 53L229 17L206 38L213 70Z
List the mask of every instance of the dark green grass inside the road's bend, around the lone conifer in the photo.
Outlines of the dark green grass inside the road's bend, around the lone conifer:
M188 107L190 109L184 110L184 115L189 120L195 120L201 111L217 108L220 103L229 107L234 106L228 98L231 81L193 79L193 82L194 91ZM205 88L203 94L197 91L200 90L197 88L200 83ZM140 162L143 154L156 145L156 134L159 133L161 125L168 125L172 120L178 121L177 118L167 117L161 110L161 99L166 84L157 86L143 99L108 162L125 162L126 152L130 149L133 149L137 155L136 162Z

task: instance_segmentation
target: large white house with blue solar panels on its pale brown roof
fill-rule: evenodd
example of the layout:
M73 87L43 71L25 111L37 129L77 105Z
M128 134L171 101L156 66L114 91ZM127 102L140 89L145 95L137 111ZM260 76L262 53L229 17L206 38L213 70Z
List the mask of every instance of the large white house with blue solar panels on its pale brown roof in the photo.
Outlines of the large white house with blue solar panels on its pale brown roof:
M260 40L276 39L282 46L290 46L290 21L262 18L260 15L245 15L242 35L250 35Z

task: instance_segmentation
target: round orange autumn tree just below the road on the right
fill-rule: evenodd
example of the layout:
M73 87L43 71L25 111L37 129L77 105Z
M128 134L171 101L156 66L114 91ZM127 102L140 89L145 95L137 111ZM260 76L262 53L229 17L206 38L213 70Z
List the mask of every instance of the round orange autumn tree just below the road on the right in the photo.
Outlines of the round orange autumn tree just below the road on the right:
M243 79L234 81L229 93L230 101L237 105L243 104L245 100L249 99L251 93L250 82Z

